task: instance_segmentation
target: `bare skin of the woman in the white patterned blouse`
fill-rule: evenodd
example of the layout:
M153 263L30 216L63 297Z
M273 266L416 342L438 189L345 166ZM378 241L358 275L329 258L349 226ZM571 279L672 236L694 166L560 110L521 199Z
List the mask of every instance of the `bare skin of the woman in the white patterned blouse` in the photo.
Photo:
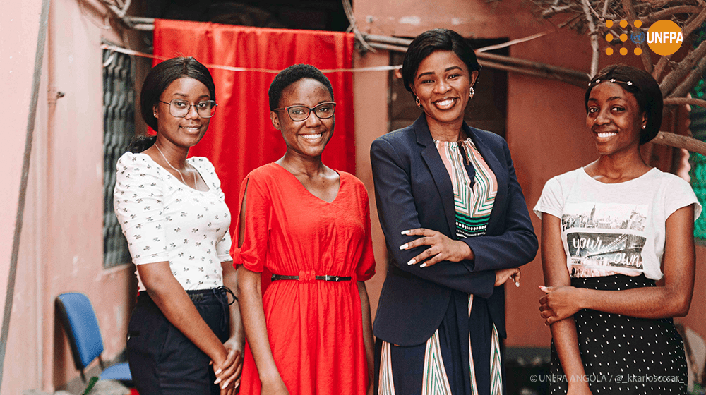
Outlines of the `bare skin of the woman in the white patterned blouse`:
M163 102L168 103L172 99L185 99L190 104L196 104L202 100L209 100L210 94L208 88L200 81L193 78L179 78L174 80L160 96ZM208 185L198 171L186 163L186 155L189 153L189 148L203 138L209 119L201 118L195 107L191 107L184 118L172 116L169 112L169 104L155 103L153 110L159 132L155 145L144 153L174 175L177 180L181 180L183 175L187 187L208 190ZM181 174L172 169L172 166L179 169ZM233 262L222 262L222 269L223 284L236 290L237 272ZM240 382L245 343L238 303L233 303L229 308L230 338L225 343L221 343L201 318L189 295L184 291L184 287L174 278L168 261L138 265L137 270L148 295L155 301L164 317L167 317L174 327L177 327L184 336L211 358L216 374L215 384L221 387L221 394L235 394L235 389Z

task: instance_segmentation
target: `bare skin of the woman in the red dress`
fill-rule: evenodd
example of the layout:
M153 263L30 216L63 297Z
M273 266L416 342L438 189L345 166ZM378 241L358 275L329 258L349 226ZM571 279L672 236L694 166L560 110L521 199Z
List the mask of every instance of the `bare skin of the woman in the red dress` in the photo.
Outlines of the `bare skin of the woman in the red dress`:
M325 102L333 102L326 87L316 80L304 78L282 91L279 107L304 105L315 107ZM333 202L338 195L340 176L321 162L321 154L333 135L335 116L319 119L313 111L304 121L292 121L287 111L271 111L273 126L282 132L287 152L277 160L278 165L294 175L306 190L325 202ZM247 188L247 187L246 187ZM239 241L245 236L247 189L240 212ZM241 246L239 245L239 246ZM262 303L261 273L239 269L238 289L241 314L248 344L258 368L262 383L261 394L289 394L280 372L275 365L267 335L267 324ZM373 377L373 328L370 303L365 282L358 281L358 294L361 300L363 339L368 363L369 378ZM373 394L373 380L369 379L368 394Z

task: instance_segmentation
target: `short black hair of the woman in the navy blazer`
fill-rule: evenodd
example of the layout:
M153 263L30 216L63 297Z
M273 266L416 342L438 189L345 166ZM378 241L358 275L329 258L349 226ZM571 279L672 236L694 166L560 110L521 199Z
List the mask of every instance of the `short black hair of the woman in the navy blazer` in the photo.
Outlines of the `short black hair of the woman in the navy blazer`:
M412 92L419 64L436 51L453 51L466 64L469 73L481 69L471 44L460 34L448 29L427 30L409 43L405 60L402 61L402 81L409 92Z

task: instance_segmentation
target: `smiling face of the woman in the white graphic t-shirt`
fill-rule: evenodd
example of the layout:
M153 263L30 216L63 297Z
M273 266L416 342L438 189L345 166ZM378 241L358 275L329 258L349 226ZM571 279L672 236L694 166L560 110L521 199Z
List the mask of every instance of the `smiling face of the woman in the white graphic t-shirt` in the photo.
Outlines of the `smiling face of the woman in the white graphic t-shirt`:
M600 83L591 90L587 105L586 126L599 154L639 150L647 116L630 92L618 83Z

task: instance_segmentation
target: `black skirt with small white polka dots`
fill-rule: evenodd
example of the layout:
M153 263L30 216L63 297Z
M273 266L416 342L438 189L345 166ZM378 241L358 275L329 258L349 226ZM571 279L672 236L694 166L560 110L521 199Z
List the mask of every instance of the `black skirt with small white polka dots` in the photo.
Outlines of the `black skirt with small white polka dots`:
M644 275L571 279L576 288L621 291L655 286ZM593 395L686 394L684 344L671 318L651 320L580 310L574 315L579 351ZM567 380L551 344L549 394L566 394Z

